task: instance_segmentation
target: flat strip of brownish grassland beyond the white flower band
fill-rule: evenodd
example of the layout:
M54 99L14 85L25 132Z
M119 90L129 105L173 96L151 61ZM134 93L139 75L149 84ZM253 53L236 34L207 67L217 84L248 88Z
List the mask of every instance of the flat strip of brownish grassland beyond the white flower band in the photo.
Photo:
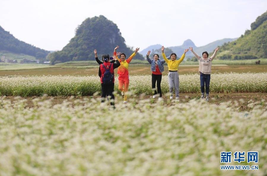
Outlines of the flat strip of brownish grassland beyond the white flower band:
M42 76L42 75L98 75L99 65L93 66L50 66L40 64L23 64L23 65L1 65L0 64L0 76ZM198 73L198 65L180 65L178 68L180 75L187 73ZM168 74L168 67L165 65L163 75ZM212 65L213 73L260 73L267 72L267 65ZM130 75L151 75L150 65L142 66L129 66ZM117 71L115 69L115 75Z

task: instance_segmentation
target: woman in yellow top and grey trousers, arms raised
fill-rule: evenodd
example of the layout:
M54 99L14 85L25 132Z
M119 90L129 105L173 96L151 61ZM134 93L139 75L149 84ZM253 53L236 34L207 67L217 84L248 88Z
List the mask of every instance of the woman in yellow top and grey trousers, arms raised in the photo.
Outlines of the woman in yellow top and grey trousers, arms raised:
M164 53L164 46L161 47L162 57L168 64L168 83L169 83L169 90L170 90L170 99L173 99L172 92L173 88L175 90L175 102L179 101L179 74L178 74L178 66L184 60L185 53L189 51L189 49L185 49L182 57L179 60L176 60L176 54L171 53L171 60L168 60L165 53Z

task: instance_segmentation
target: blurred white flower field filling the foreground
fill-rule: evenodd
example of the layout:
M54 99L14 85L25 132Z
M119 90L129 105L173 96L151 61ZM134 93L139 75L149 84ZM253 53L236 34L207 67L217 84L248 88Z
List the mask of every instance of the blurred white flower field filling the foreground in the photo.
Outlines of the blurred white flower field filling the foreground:
M56 78L66 89L66 78L72 78L70 84L86 82L83 77L45 77L49 81ZM26 80L21 82L23 86L38 82ZM45 86L45 81L40 86ZM47 86L66 91L51 82ZM190 100L166 106L149 100L130 100L127 107L117 103L113 110L108 103L94 98L72 102L70 99L54 106L51 100L34 99L34 106L25 108L25 100L11 102L1 97L1 176L267 173L264 100L250 101L249 111L239 111L237 102L215 105ZM222 151L258 151L259 170L220 170Z

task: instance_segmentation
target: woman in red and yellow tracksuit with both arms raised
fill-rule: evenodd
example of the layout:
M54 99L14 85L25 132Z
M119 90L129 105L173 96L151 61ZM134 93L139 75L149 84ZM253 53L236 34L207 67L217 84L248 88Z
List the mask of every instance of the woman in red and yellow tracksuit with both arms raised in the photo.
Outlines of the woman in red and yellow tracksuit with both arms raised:
M114 49L114 55L117 55L116 49L119 46L117 46ZM126 55L124 53L120 54L120 59L117 57L117 59L120 62L120 66L118 68L118 79L119 79L119 89L121 91L121 95L124 95L123 103L127 103L127 93L128 87L129 87L129 72L128 72L128 66L133 57L136 55L136 53L139 51L139 48L136 48L134 53L125 60ZM124 86L124 87L123 87Z

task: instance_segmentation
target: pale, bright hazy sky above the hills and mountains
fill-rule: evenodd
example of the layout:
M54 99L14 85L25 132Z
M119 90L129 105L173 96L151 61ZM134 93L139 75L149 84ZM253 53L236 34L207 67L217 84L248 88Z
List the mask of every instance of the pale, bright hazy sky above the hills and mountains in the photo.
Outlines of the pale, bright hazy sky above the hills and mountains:
M237 38L266 12L266 0L0 0L0 26L28 44L61 50L86 18L104 15L130 47L197 47ZM1 42L1 41L0 41Z

